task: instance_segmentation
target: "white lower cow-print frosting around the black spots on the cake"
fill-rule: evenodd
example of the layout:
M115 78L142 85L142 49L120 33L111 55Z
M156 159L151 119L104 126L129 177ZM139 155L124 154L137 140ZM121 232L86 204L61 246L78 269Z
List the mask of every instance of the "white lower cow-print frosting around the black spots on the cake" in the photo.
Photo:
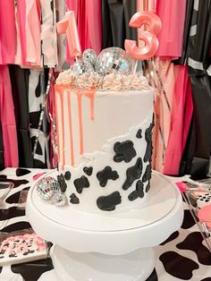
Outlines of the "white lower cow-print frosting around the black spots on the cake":
M131 187L127 191L122 190L122 185L126 180L126 171L130 166L134 166L136 164L137 159L144 158L146 149L147 149L147 141L145 140L145 131L148 129L148 126L152 122L152 112L148 113L147 118L145 121L135 127L132 127L131 130L122 135L118 136L114 139L111 139L106 142L105 146L100 150L95 153L91 153L87 155L89 157L89 161L82 163L78 167L65 167L66 171L71 171L72 173L72 179L71 181L68 182L68 189L67 189L67 196L71 196L72 192L77 195L77 197L80 200L80 204L77 205L72 205L73 208L84 210L84 211L89 211L93 213L102 213L102 210L97 208L97 198L100 196L107 196L113 192L120 192L121 197L122 197L122 202L119 205L116 205L115 210L112 213L119 213L122 211L127 211L130 210L131 208L137 208L139 207L146 199L148 193L145 192L145 196L143 198L139 198L134 201L130 201L128 199L128 196L131 194L136 189L136 183L137 180L132 183ZM143 137L141 139L138 139L136 137L136 134L141 128L142 130L142 135ZM114 162L114 143L116 141L128 141L131 140L134 144L134 149L137 152L137 157L132 158L130 163L125 163L124 161L120 163ZM140 177L140 180L142 176L144 175L146 171L146 167L148 166L148 162L143 163L143 172ZM86 175L83 172L83 168L85 166L92 166L93 167L93 172L91 176ZM105 166L111 166L112 170L116 171L119 175L119 178L116 179L115 181L109 180L105 187L102 187L99 185L99 182L97 180L97 172L102 171ZM76 188L74 186L74 180L76 178L79 178L81 175L87 176L89 180L89 188L84 188L82 193L78 193L76 191ZM146 190L146 187L148 185L148 182L144 183L143 190ZM105 211L104 211L105 212Z

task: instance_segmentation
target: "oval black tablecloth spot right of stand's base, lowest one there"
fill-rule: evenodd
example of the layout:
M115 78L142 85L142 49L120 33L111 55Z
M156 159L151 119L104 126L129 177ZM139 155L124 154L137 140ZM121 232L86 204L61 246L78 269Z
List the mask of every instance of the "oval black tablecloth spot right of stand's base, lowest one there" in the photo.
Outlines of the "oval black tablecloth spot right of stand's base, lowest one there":
M162 261L168 274L183 280L190 280L193 276L192 271L199 268L195 261L185 258L175 251L166 251L159 260Z

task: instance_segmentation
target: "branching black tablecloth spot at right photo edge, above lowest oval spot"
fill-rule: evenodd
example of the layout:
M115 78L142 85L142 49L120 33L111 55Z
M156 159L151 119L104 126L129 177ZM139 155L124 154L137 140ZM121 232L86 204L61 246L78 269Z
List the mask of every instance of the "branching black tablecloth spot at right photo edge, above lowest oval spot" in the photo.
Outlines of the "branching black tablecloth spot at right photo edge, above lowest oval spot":
M211 253L207 247L202 244L203 237L199 232L190 233L184 241L178 243L176 247L181 250L194 251L197 254L198 261L201 264L211 265Z

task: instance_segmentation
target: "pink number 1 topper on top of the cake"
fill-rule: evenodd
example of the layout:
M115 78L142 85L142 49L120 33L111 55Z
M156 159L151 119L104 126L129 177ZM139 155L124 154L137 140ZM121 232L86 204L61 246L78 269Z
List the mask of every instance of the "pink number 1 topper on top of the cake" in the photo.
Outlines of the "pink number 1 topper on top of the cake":
M66 12L62 21L56 23L58 34L66 33L72 57L80 56L80 39L73 11Z

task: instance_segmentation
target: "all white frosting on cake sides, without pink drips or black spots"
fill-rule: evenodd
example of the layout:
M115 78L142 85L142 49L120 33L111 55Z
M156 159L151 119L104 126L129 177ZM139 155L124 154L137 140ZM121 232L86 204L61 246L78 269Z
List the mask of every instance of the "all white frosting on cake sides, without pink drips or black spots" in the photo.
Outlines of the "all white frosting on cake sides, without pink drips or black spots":
M126 77L125 83L127 82ZM118 80L117 80L118 81ZM136 80L133 81L135 87ZM145 85L143 79L143 85ZM147 87L147 85L146 85ZM72 134L74 144L75 166L71 166L71 141L70 141L70 125L68 119L68 98L71 95L72 102ZM61 103L58 94L57 99L58 123L59 123L59 139L62 141L62 115ZM130 91L97 91L95 98L95 120L89 118L90 106L89 98L82 98L82 121L84 134L84 151L80 157L80 141L79 141L79 116L78 102L76 94L73 92L63 91L63 107L64 107L64 155L66 166L65 171L71 171L72 178L68 181L66 191L69 197L75 193L80 200L80 204L71 204L72 208L86 210L89 212L102 213L101 209L97 208L97 198L107 196L113 192L120 192L122 203L117 205L112 213L126 211L135 208L142 204L147 198L147 193L143 199L130 201L129 194L136 188L135 181L127 191L122 190L122 184L126 179L126 171L130 166L134 166L137 158L144 158L147 141L145 140L145 131L152 122L153 108L153 90L130 90ZM138 139L136 133L141 128L142 138ZM131 159L130 163L124 161L120 163L114 162L114 143L116 141L130 140L134 144L137 156ZM59 148L62 154L62 146ZM144 175L148 162L143 161ZM92 166L93 174L86 175L83 172L84 166ZM111 166L112 170L117 171L119 178L115 181L109 180L105 187L101 187L97 180L97 172L103 170L105 166ZM61 163L60 163L61 168ZM89 188L84 188L82 193L78 193L74 186L74 180L85 175L89 180ZM140 180L141 180L140 178ZM147 183L144 183L144 191L146 191ZM105 211L104 211L105 212Z

